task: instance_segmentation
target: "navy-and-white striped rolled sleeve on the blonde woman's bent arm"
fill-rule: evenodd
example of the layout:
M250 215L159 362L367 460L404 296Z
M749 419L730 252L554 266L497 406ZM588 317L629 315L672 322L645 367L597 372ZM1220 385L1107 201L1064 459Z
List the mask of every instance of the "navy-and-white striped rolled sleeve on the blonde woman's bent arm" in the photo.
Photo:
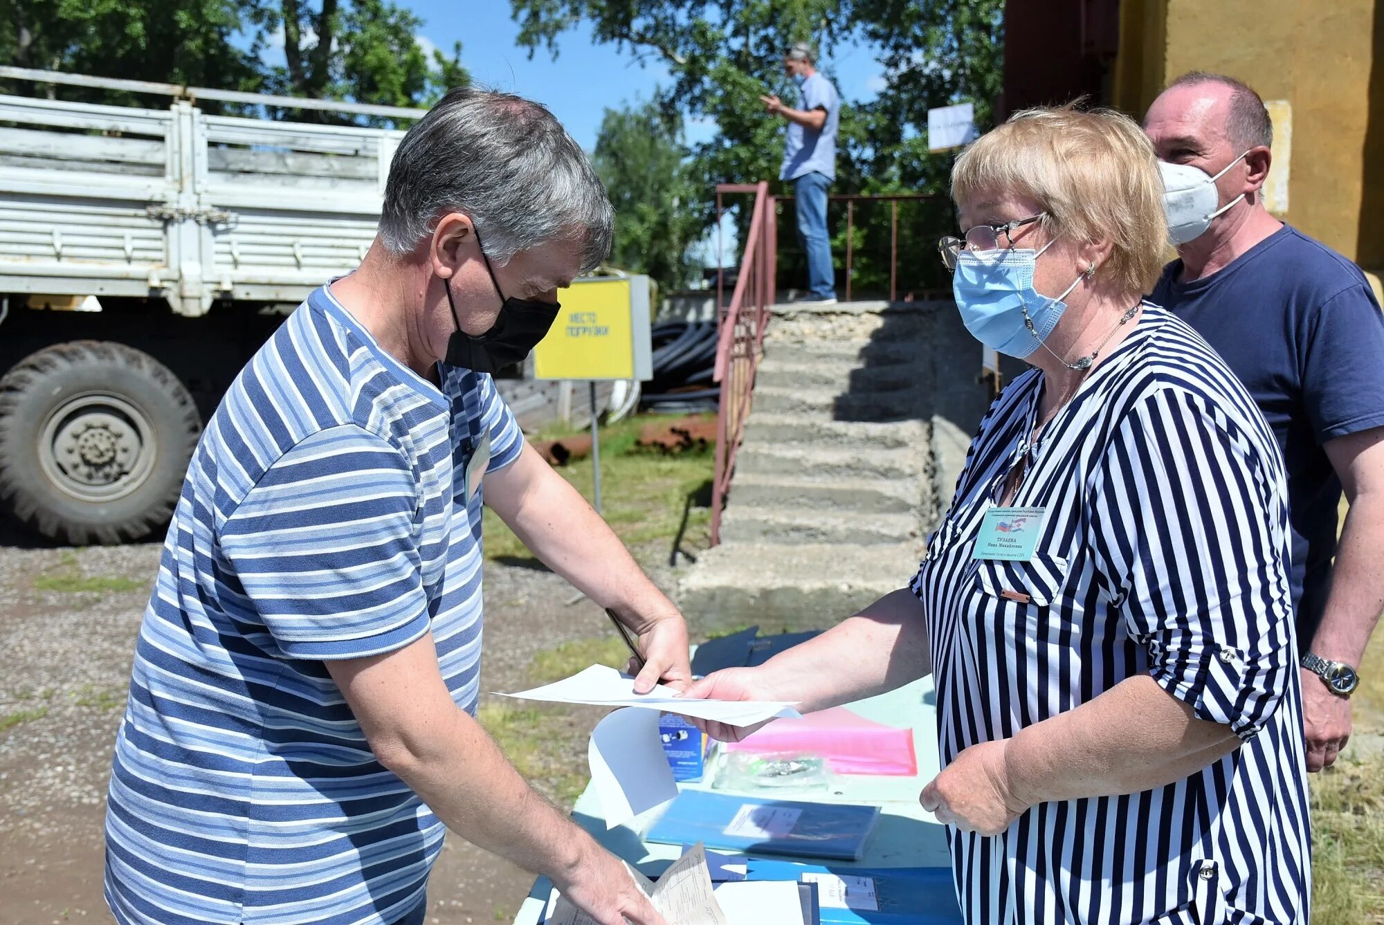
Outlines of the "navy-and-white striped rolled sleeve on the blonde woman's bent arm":
M1282 619L1282 489L1251 442L1194 396L1124 418L1092 493L1096 569L1149 672L1196 716L1251 738L1294 670Z

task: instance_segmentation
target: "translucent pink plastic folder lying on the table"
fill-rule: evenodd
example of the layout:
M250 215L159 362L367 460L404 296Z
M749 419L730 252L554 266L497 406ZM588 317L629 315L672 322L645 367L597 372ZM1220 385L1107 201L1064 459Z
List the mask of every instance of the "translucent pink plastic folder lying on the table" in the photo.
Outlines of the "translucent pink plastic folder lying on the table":
M918 774L913 730L894 728L835 706L801 719L778 719L727 751L752 755L821 755L836 774Z

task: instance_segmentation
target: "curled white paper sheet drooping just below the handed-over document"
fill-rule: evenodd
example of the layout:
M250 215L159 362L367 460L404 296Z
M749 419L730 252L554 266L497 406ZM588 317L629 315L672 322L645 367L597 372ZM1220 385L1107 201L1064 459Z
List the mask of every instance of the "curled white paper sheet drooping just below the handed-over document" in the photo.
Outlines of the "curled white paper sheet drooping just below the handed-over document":
M597 723L587 762L606 828L623 825L678 795L653 710L620 709Z

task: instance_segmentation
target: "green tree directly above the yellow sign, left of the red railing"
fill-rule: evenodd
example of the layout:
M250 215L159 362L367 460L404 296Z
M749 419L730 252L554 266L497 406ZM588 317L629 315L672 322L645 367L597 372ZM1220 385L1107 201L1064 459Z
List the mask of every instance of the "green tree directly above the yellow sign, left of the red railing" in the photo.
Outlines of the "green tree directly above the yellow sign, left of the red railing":
M657 102L606 109L591 155L614 205L610 263L666 289L686 287L698 273L688 248L702 222L688 209L698 188L681 137L681 116Z

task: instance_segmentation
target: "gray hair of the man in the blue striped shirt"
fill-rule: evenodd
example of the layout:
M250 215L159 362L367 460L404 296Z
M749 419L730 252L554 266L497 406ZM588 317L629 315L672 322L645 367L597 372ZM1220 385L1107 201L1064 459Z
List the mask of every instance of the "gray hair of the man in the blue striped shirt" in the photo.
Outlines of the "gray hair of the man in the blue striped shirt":
M610 252L605 186L551 112L509 93L450 91L404 134L389 165L379 237L407 253L439 216L464 212L505 264L549 241L581 245L581 271Z

